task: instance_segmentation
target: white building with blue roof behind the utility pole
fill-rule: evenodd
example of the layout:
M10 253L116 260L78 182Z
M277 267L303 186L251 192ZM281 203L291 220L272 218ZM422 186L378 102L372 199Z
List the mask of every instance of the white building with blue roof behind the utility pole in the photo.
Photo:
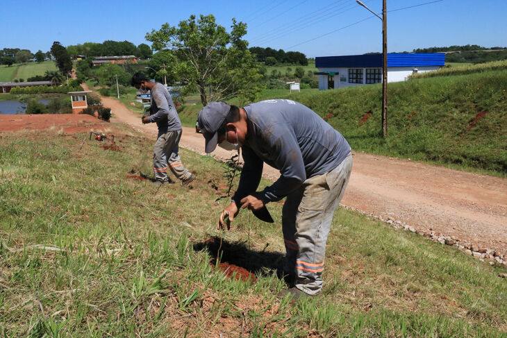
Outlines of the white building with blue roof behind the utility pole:
M382 54L317 57L319 90L381 83L382 59ZM388 53L388 83L440 69L444 62L445 53Z

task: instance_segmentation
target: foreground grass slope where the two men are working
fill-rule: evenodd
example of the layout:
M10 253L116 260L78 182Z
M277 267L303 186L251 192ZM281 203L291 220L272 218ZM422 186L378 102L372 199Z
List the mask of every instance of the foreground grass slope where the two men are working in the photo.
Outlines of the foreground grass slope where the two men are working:
M58 128L0 135L2 337L506 337L505 267L342 208L322 294L276 298L282 203L274 225L243 211L220 233L219 162L182 150L193 187L157 190L141 178L153 140L111 128L119 151ZM221 236L256 282L215 269Z

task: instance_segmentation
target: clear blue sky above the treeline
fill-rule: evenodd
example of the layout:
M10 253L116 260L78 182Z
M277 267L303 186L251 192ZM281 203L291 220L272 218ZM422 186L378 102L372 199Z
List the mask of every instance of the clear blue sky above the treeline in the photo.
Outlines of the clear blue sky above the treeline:
M432 1L387 1L389 52L454 44L507 47L507 1ZM363 3L381 13L381 0ZM417 6L422 3L427 4ZM246 22L250 47L301 51L308 57L381 51L381 20L355 0L3 1L0 49L35 53L48 51L53 41L137 45L147 43L144 36L151 29L165 22L175 26L192 14L213 14L226 28L233 17Z

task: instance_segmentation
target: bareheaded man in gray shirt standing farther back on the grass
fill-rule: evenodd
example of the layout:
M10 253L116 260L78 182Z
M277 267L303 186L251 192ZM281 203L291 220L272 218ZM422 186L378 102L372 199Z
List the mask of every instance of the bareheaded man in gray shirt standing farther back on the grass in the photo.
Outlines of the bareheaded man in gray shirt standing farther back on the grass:
M158 126L158 136L153 147L153 172L156 183L162 185L169 182L167 178L167 167L169 167L183 185L188 185L195 179L195 175L183 167L178 155L182 127L171 95L164 85L149 81L140 71L134 74L131 84L138 90L151 92L151 114L142 117L142 123L156 122Z

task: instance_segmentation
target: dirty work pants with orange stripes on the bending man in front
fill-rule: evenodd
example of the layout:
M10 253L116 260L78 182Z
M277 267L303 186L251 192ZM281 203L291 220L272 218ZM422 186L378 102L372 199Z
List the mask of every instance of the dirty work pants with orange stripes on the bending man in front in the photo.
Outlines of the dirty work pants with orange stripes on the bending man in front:
M322 289L327 236L351 169L349 153L335 169L305 180L283 205L284 271L290 276L295 272L295 286L307 294L317 294Z

